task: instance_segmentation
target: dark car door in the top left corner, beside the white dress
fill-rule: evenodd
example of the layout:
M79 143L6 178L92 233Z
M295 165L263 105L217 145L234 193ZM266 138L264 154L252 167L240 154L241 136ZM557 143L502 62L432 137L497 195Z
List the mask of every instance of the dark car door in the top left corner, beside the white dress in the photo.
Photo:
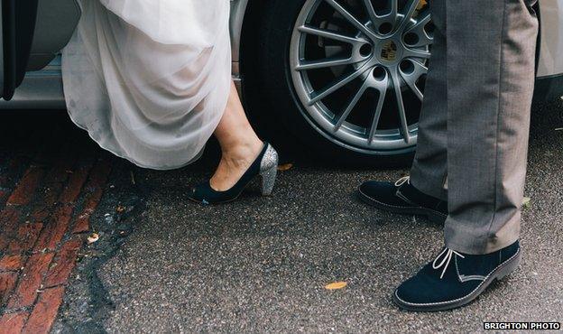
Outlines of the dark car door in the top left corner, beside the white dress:
M76 0L1 0L0 97L9 100L25 73L41 70L76 29Z

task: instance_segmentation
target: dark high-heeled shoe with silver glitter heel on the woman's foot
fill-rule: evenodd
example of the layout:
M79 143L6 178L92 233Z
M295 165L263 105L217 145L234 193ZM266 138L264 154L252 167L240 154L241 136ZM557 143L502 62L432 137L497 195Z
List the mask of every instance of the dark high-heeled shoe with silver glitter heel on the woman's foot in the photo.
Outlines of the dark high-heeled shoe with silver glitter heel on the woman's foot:
M201 204L221 204L230 202L237 199L250 181L258 175L262 177L263 196L270 196L277 172L278 153L273 149L271 144L264 143L262 152L231 189L217 191L211 188L209 181L207 181L192 189L189 194L189 199Z

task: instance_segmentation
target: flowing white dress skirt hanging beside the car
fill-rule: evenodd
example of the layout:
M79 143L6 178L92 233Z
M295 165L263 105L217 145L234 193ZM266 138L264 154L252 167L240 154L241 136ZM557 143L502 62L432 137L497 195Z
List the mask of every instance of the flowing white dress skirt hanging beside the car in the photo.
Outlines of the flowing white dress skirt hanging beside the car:
M70 118L135 164L193 162L231 84L228 0L79 0L62 54Z

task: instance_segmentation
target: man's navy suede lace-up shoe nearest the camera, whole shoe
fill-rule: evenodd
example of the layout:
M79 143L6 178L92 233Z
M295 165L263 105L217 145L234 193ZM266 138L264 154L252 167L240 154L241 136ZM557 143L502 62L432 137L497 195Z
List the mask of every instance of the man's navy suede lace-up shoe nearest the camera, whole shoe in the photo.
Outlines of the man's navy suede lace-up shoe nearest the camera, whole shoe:
M393 302L409 311L446 311L472 302L495 280L511 274L521 260L518 241L487 255L444 248L436 259L402 283Z

